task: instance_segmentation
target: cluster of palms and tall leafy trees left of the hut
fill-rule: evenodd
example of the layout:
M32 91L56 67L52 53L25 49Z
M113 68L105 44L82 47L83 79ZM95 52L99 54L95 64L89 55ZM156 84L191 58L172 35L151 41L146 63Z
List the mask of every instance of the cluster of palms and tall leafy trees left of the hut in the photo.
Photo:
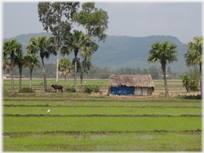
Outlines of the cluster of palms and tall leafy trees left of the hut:
M19 82L21 82L22 67L30 67L30 85L32 85L32 71L36 67L40 67L40 62L35 55L40 52L40 58L43 66L44 90L47 91L46 72L44 58L49 58L50 54L57 56L56 62L56 84L58 85L59 72L65 72L61 64L59 67L59 54L63 56L74 52L74 84L75 91L77 91L76 77L77 77L77 56L81 54L84 59L82 64L81 78L83 79L83 72L85 71L87 61L90 62L92 54L97 51L98 45L93 41L93 37L97 37L98 41L105 41L107 35L105 34L108 28L107 12L95 7L94 2L87 2L82 4L82 10L78 11L79 2L40 2L38 3L39 21L42 22L44 30L51 31L53 37L38 36L31 37L29 45L26 47L27 56L23 56L22 45L15 39L11 41L4 41L3 53L4 64L3 68L11 67L11 84L12 94L14 93L13 85L13 67L19 67ZM73 23L77 23L85 28L86 33L78 30L72 30ZM32 54L32 55L31 55ZM8 57L10 55L10 57ZM21 62L18 64L14 62L14 58ZM8 63L10 59L10 63ZM61 61L63 62L63 61ZM69 73L68 73L69 74ZM31 88L31 86L30 86ZM19 85L21 89L21 85Z

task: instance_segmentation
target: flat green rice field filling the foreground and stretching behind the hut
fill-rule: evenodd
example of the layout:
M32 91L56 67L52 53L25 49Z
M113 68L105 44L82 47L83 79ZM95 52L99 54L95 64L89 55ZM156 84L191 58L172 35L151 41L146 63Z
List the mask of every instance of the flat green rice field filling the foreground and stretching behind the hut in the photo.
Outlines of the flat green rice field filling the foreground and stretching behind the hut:
M108 80L85 81L107 91ZM169 101L163 80L147 97L55 93L55 80L45 93L42 82L33 80L35 93L18 93L15 80L11 95L4 80L3 151L202 151L202 101L178 96L186 94L180 80L168 81Z

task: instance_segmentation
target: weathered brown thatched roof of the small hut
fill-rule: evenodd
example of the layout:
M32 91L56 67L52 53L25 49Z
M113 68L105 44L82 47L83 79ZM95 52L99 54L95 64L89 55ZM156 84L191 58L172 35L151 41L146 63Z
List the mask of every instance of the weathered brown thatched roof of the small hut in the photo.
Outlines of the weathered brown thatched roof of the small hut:
M153 87L154 81L151 75L112 75L109 87Z

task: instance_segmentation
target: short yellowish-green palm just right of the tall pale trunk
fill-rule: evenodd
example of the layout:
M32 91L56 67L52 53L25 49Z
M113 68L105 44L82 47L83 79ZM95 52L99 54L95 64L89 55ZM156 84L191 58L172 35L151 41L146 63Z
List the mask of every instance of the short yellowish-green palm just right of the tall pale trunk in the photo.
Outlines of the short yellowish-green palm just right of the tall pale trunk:
M72 73L72 68L73 65L70 62L69 57L68 58L63 57L60 59L58 70L60 74L64 73L65 86L67 85L66 76L69 76Z

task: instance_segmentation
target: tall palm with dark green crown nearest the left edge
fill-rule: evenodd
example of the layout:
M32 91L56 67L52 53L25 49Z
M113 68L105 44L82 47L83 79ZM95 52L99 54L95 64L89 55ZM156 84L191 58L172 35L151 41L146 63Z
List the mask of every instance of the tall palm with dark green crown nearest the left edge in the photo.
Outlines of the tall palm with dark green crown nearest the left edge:
M13 81L13 67L14 67L14 57L16 53L21 52L22 45L16 41L16 39L4 41L3 51L4 57L10 55L11 60L11 92L14 94L14 81Z

